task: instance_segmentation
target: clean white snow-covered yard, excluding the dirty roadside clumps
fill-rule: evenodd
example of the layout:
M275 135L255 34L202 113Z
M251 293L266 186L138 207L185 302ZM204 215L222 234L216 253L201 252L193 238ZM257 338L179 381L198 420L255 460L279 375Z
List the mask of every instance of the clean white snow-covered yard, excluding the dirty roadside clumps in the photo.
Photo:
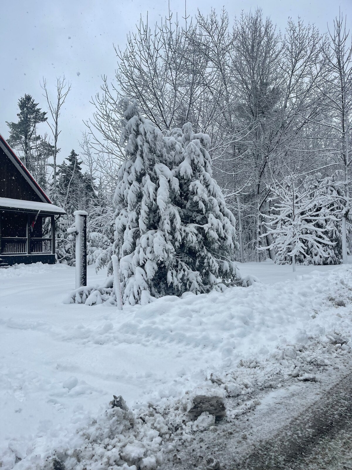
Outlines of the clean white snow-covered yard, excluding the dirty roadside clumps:
M199 385L248 393L253 380L264 383L279 370L287 377L295 367L301 375L300 364L324 367L331 355L349 352L351 267L297 266L296 275L291 266L270 262L239 267L262 283L161 298L122 312L105 304L64 304L75 284L74 268L0 269L2 468L15 462L36 468L50 449L78 446L75 430L89 427L113 395L137 410L148 402L175 403ZM88 285L104 278L89 266ZM350 343L332 350L336 341L326 334ZM210 382L211 373L222 377L220 386ZM155 436L143 439L149 439L147 454L153 446L157 454ZM148 458L144 468L155 468ZM125 460L131 464L133 458Z

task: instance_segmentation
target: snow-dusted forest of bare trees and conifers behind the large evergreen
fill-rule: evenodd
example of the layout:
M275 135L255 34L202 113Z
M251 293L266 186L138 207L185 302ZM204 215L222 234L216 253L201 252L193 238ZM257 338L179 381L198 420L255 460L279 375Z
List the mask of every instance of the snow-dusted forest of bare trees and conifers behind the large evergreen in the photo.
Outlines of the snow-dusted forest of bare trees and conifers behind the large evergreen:
M291 18L279 31L260 9L141 19L115 61L114 80L103 78L87 130L63 163L61 111L74 93L65 78L55 93L43 81L41 108L30 94L20 98L18 121L8 123L9 144L67 211L57 222L61 262L74 259L66 230L76 209L89 213L91 262L114 242L123 97L166 137L186 123L210 136L213 176L236 217L238 260L347 262L352 47L342 14L328 31Z

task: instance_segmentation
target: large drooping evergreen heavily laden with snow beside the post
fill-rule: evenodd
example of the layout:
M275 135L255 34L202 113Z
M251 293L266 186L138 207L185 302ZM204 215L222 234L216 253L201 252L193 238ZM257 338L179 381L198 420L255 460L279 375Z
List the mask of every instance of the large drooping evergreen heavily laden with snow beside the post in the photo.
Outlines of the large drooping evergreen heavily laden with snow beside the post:
M189 123L163 136L126 99L120 111L125 161L115 191L115 241L99 262L112 274L117 255L123 303L238 280L235 219L212 178L210 138Z

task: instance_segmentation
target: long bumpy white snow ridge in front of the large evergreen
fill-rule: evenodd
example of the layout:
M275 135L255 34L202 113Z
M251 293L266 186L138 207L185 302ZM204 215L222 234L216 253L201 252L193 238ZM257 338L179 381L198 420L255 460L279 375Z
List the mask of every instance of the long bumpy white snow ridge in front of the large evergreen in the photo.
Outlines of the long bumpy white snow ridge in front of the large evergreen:
M278 344L305 343L307 331L324 335L325 329L331 329L328 318L312 321L312 314L333 306L327 297L347 295L350 271L337 269L275 286L255 282L247 289L187 293L145 306L125 306L129 320L121 325L113 323L106 331L80 325L66 339L178 348L181 355L194 352L203 364L210 359L227 366L249 357L263 359Z

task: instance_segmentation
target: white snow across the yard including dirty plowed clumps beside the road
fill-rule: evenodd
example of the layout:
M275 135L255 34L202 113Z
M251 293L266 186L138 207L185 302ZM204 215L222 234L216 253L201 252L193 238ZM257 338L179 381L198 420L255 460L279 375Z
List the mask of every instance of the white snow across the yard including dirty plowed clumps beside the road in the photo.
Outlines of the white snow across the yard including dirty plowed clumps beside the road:
M123 470L158 468L162 449L173 451L173 436L187 441L213 426L207 410L196 423L186 417L196 394L225 397L223 419L235 419L256 406L256 389L318 380L319 368L351 350L350 267L164 297L122 312L108 303L63 305L74 283L68 266L21 267L20 290L5 277L11 271L0 272L0 415L11 430L0 442L3 469L15 462L19 469L46 468L54 458L67 469L98 462L108 468L114 458ZM97 417L113 393L133 413L123 410L122 417L105 406ZM37 423L40 413L47 416Z

